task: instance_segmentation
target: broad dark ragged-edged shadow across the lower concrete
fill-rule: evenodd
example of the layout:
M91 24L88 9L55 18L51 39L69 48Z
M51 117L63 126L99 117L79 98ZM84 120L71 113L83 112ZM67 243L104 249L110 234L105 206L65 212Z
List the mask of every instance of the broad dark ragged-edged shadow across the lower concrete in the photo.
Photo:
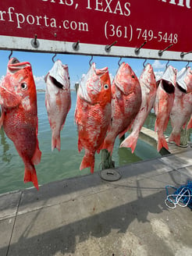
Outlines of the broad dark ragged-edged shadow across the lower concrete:
M29 221L27 229L25 229L19 237L18 242L10 245L9 254L7 255L52 256L57 253L73 254L76 251L77 240L79 244L85 240L89 240L90 237L104 239L113 229L117 229L118 233L126 233L130 223L135 219L137 219L137 222L149 222L149 213L158 214L167 209L164 201L162 201L162 197L165 197L164 190L148 197L142 197L140 187L137 187L137 197L136 201L132 201L128 204L123 204L105 212L91 215L88 218L80 219L79 221L63 225L37 236L27 237L31 227L36 222L39 214L37 212L34 219ZM74 204L76 204L75 201ZM63 205L63 207L65 206ZM82 207L84 207L84 205L82 205ZM78 208L76 210L78 211ZM65 217L63 218L63 222L65 222ZM163 246L165 247L166 245ZM0 249L0 255L3 255L2 251L3 248Z

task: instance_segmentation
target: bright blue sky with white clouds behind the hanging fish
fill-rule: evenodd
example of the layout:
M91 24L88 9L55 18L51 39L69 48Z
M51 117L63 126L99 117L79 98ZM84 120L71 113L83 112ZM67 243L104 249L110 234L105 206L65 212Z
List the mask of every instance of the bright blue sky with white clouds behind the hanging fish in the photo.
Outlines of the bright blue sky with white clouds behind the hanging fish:
M11 51L0 51L0 80L6 74L7 63L9 62L9 55ZM54 62L52 58L55 53L40 53L40 52L17 52L13 51L11 57L16 57L20 62L30 62L34 74L34 80L37 89L44 89L44 76L48 73ZM80 82L80 78L87 73L89 69L89 62L91 60L91 55L69 55L69 54L57 54L54 60L60 59L62 64L67 64L69 66L69 76L70 76L70 85L71 89L74 88L76 82ZM137 58L123 58L118 57L105 57L105 56L93 56L91 62L96 63L96 68L101 69L105 66L108 67L108 71L111 77L116 75L116 71L119 68L118 62L120 63L127 62L137 77L140 76L140 73L144 69L143 63L145 59ZM150 63L153 68L155 75L162 75L165 71L165 66L167 61L157 60L157 59L148 59L145 64ZM144 64L144 65L145 65ZM187 62L173 62L170 61L168 65L174 66L178 71L184 66L187 66Z

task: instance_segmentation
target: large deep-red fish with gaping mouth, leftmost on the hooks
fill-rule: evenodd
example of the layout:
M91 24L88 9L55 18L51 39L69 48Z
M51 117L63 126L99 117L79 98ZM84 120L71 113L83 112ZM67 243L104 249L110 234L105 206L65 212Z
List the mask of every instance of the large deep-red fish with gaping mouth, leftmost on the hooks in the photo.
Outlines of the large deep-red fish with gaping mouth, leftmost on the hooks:
M0 85L0 104L3 126L7 137L13 141L25 165L24 183L32 181L38 190L34 165L41 161L37 131L37 93L29 62L12 58Z

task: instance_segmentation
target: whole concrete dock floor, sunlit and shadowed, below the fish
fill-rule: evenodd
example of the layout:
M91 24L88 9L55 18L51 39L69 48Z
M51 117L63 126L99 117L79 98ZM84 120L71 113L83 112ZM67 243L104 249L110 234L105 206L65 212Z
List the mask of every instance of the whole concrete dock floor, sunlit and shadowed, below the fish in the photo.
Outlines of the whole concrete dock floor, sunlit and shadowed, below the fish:
M192 180L192 148L0 196L1 256L189 256L192 212L165 205L165 186ZM170 191L171 193L171 191Z

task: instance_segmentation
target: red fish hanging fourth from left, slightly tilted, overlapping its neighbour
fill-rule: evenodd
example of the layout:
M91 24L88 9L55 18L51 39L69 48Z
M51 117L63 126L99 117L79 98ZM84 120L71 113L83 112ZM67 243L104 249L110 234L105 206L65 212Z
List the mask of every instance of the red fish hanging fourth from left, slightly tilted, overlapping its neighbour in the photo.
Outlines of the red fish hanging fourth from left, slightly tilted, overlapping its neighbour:
M112 82L112 122L109 126L103 148L112 155L116 137L123 136L129 129L141 104L140 83L129 64L123 62ZM121 144L126 147L126 144Z

